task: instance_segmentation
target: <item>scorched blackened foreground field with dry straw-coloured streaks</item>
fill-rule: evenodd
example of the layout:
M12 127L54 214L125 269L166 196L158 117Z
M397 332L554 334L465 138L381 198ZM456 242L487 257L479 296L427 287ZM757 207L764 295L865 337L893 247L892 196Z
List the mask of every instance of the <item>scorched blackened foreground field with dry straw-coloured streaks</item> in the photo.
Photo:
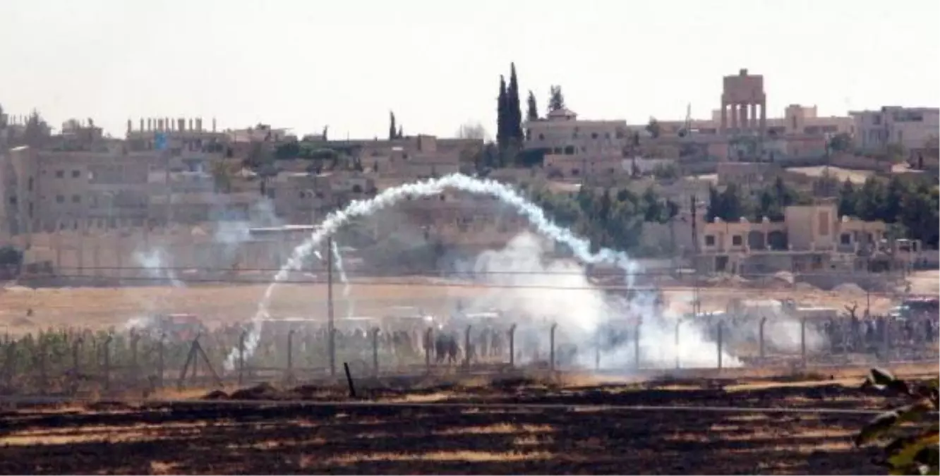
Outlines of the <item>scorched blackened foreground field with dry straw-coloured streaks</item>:
M703 409L885 407L885 398L857 390L859 382L716 388L517 380L365 392L370 401L460 407L243 403L341 398L323 389L259 388L232 394L237 402L198 406L21 408L3 415L0 473L880 474L870 464L876 450L852 445L870 415Z

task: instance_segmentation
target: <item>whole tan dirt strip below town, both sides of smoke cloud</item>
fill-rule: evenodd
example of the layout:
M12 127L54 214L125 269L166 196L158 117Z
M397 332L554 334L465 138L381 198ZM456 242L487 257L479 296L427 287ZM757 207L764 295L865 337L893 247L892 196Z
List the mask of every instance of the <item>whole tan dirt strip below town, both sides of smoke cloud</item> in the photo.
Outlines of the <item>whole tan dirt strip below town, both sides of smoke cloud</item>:
M940 275L920 278L916 285L917 289L922 288L921 292L940 293ZM185 288L7 286L0 288L0 331L24 332L59 326L103 330L119 327L133 317L158 312L196 314L210 325L238 323L255 315L266 287L266 284L194 284ZM663 289L676 311L691 310L694 298L689 286L666 285ZM335 284L337 315L347 315L346 306L352 303L352 314L380 317L392 306L417 306L445 315L456 300L469 302L487 290L431 278L370 278L354 281L349 299L344 297L344 292L342 284ZM325 284L280 284L271 300L271 315L325 315L326 296ZM892 297L882 294L840 294L790 285L764 289L734 285L703 287L699 296L703 311L724 310L730 299L796 299L806 305L834 307L839 311L852 303L864 308L870 301L873 313L885 312L892 305ZM29 310L32 315L27 315Z

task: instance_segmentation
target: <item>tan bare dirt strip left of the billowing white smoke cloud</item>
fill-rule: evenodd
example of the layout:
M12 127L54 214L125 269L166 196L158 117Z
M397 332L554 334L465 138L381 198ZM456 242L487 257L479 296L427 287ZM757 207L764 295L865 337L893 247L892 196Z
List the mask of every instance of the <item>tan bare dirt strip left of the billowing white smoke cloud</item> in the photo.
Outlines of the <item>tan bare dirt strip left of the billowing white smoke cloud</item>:
M122 288L38 288L10 286L0 291L0 327L28 331L46 327L81 326L107 329L148 313L191 313L207 324L245 322L258 309L267 284L196 284ZM353 284L349 299L343 285L335 284L337 315L346 315L352 302L357 316L377 317L391 306L420 306L444 311L450 299L468 299L481 290L447 286L428 279L368 279ZM271 315L325 315L325 284L280 284L271 300ZM27 310L32 315L27 316Z

